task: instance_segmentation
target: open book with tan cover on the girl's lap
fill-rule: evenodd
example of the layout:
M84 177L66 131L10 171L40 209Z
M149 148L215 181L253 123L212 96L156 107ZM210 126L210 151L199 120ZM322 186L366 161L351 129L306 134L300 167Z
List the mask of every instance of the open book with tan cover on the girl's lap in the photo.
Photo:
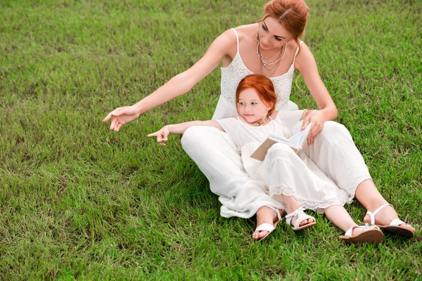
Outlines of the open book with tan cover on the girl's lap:
M267 151L269 148L271 148L271 145L274 145L274 143L284 143L290 146L290 148L293 148L293 150L298 153L300 150L302 150L307 135L309 134L309 131L311 131L311 127L312 123L309 123L304 130L300 131L299 133L295 133L289 139L280 136L269 135L267 140L265 140L264 143L262 143L262 145L260 145L260 147L257 148L257 150L255 150L252 155L250 155L250 157L264 161L265 155L267 155Z

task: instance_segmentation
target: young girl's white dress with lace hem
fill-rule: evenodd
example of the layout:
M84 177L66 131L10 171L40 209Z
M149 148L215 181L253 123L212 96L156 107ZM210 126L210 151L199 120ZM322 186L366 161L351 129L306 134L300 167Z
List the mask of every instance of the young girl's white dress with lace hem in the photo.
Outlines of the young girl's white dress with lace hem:
M352 202L353 196L338 188L302 150L296 154L288 145L276 143L269 148L263 162L250 157L267 137L290 138L300 130L291 124L300 125L299 111L279 112L274 120L264 126L250 126L238 117L218 119L217 122L229 134L250 178L264 183L262 188L271 197L283 203L282 197L294 196L300 207L323 212L331 205L344 205Z

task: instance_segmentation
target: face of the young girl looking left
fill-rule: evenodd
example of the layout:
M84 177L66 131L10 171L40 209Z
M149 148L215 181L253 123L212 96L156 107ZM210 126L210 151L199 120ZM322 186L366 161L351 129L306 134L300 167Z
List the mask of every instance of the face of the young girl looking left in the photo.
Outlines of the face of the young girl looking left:
M264 103L255 89L245 89L239 93L238 113L246 122L254 123L268 115L272 104Z

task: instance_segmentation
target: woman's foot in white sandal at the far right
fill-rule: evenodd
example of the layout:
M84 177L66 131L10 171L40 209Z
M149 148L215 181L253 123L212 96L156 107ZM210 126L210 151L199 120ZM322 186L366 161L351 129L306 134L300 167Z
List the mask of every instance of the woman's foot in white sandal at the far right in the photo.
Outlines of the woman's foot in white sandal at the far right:
M373 221L371 221L370 214L373 214L373 217L374 217ZM373 225L381 226L381 227L387 227L387 226L390 226L390 223L392 223L392 221L395 221L396 219L399 219L399 216L397 215L392 205L384 204L381 207L378 207L378 209L368 211L368 213L366 213L366 216L364 217L364 223L369 223L369 224L373 224ZM399 223L397 227L405 229L404 231L408 233L407 236L404 235L406 237L413 236L411 234L413 234L415 231L415 229L411 225L404 222ZM411 233L409 233L409 231ZM399 233L399 231L395 233Z

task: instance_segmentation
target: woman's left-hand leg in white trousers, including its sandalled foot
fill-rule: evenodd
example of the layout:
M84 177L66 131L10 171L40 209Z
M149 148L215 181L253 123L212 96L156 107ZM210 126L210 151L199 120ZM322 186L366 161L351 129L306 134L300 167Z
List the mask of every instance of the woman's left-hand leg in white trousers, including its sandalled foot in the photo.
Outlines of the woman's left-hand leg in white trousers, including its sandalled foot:
M193 126L185 131L181 144L210 181L211 191L219 195L222 216L250 218L257 214L258 225L276 221L276 212L265 207L283 209L283 204L264 192L263 183L248 176L234 149L236 145L226 133L214 127ZM267 232L258 234L262 237Z

